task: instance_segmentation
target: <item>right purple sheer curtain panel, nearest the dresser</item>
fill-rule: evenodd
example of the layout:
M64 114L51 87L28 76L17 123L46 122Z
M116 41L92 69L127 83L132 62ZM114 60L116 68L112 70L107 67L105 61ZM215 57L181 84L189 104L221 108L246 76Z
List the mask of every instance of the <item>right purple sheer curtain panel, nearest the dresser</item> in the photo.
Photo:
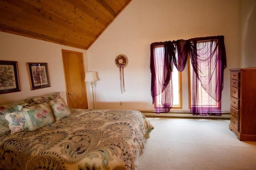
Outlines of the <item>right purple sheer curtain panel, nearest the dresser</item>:
M226 68L224 37L190 39L190 42L190 112L200 116L220 116L223 73Z

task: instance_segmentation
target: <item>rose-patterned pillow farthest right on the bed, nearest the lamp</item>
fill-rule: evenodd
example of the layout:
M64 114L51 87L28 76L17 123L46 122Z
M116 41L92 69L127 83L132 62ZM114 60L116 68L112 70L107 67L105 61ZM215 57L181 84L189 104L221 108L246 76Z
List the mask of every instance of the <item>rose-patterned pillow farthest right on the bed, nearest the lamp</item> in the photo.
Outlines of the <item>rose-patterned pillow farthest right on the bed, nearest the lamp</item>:
M62 98L52 100L48 105L52 109L56 121L70 115L70 109Z

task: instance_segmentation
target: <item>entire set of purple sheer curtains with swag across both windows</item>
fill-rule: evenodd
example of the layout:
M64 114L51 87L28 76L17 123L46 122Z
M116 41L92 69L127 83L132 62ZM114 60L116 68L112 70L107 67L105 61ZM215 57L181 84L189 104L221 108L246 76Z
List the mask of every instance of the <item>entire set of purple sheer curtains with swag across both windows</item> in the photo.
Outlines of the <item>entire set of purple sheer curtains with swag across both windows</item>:
M192 65L192 100L190 112L193 115L221 115L221 92L223 73L226 68L224 36L192 38L173 42L156 42L150 45L151 95L155 103L161 95L161 105L156 105L156 113L168 113L172 108L172 70L174 66L183 71L188 55ZM157 57L156 57L157 55ZM198 84L200 83L200 84ZM217 103L216 107L200 107L200 89L210 95L206 103Z

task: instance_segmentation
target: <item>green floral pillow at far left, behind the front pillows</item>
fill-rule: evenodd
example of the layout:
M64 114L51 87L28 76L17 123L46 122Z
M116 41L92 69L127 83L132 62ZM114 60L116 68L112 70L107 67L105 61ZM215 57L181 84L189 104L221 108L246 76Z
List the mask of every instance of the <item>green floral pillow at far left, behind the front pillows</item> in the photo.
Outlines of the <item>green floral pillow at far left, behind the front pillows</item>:
M30 103L32 100L31 99L25 99L25 100L20 100L20 101L14 101L12 103L7 103L4 105L0 105L0 124L8 127L8 121L5 119L5 115L7 113L12 113L17 110L17 105L21 103Z

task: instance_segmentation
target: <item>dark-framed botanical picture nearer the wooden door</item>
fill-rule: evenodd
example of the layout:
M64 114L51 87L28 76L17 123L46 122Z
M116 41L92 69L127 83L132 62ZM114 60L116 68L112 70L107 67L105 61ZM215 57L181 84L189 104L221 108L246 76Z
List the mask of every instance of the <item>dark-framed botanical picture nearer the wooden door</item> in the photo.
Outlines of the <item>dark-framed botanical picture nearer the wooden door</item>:
M27 63L31 90L50 87L47 63Z

